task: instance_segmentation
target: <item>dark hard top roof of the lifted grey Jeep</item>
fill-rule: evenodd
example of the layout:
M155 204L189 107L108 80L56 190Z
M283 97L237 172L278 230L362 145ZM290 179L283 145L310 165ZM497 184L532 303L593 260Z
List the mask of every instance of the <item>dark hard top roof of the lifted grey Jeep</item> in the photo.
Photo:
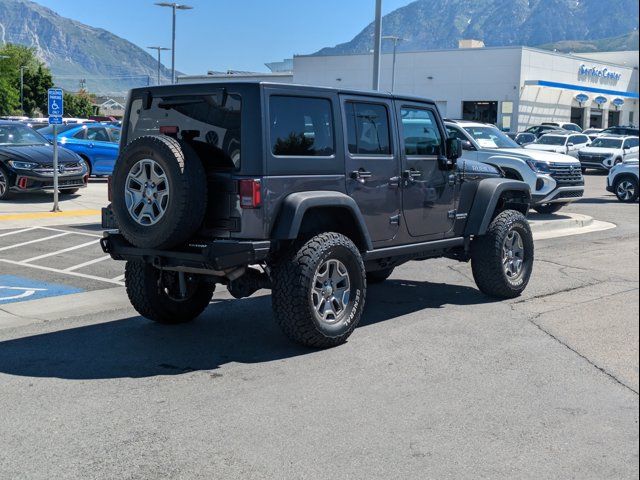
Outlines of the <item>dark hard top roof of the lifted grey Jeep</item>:
M151 93L151 95L189 95L189 94L202 94L207 91L221 90L224 88L247 88L255 86L256 88L277 88L278 90L291 90L292 92L334 92L343 95L354 96L367 96L367 97L379 97L379 98L393 98L396 100L405 100L409 102L427 102L435 105L435 102L429 98L417 97L411 95L398 95L391 92L379 92L375 90L355 90L346 88L333 88L333 87L320 87L313 85L298 85L293 83L276 83L276 82L264 82L257 80L244 80L244 81L229 81L229 82L194 82L194 83L178 83L174 85L160 85L153 87L139 87L131 90L132 96L140 96L145 92Z

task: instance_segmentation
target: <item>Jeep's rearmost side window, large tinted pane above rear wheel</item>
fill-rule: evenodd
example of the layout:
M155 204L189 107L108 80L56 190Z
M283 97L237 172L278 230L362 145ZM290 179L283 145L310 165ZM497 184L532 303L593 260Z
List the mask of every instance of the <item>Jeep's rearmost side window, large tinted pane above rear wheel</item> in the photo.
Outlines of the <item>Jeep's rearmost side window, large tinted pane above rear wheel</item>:
M273 95L269 112L274 155L329 157L335 152L329 100Z

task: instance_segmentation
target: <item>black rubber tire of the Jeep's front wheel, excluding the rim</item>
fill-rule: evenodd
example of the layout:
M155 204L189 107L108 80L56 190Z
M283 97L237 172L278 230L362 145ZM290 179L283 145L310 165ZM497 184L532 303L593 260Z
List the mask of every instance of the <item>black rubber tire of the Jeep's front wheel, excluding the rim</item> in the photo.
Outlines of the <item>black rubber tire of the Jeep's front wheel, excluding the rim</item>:
M510 279L503 267L503 248L509 233L520 234L524 246L522 274ZM496 298L516 298L524 292L533 271L534 245L531 227L526 217L515 210L500 213L487 232L477 237L471 246L471 269L476 285L486 295Z

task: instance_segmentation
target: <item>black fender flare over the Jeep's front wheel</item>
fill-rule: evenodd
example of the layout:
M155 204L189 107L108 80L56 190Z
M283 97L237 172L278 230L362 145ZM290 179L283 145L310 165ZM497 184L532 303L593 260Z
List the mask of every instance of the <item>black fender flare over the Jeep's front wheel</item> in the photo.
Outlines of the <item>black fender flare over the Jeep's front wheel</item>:
M487 232L498 202L507 192L520 193L528 199L529 203L531 202L531 189L525 182L506 178L485 178L478 182L467 216L464 236L484 235ZM469 199L461 198L460 200L469 202Z

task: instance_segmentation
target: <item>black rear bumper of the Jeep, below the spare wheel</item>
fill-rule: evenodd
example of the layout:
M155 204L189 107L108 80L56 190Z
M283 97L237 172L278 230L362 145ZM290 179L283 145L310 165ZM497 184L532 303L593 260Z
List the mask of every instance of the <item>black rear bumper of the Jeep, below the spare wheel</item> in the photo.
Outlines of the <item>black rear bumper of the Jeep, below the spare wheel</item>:
M167 270L225 276L230 270L259 263L271 250L270 241L209 240L180 250L137 248L117 231L105 232L100 245L114 260L138 261Z

